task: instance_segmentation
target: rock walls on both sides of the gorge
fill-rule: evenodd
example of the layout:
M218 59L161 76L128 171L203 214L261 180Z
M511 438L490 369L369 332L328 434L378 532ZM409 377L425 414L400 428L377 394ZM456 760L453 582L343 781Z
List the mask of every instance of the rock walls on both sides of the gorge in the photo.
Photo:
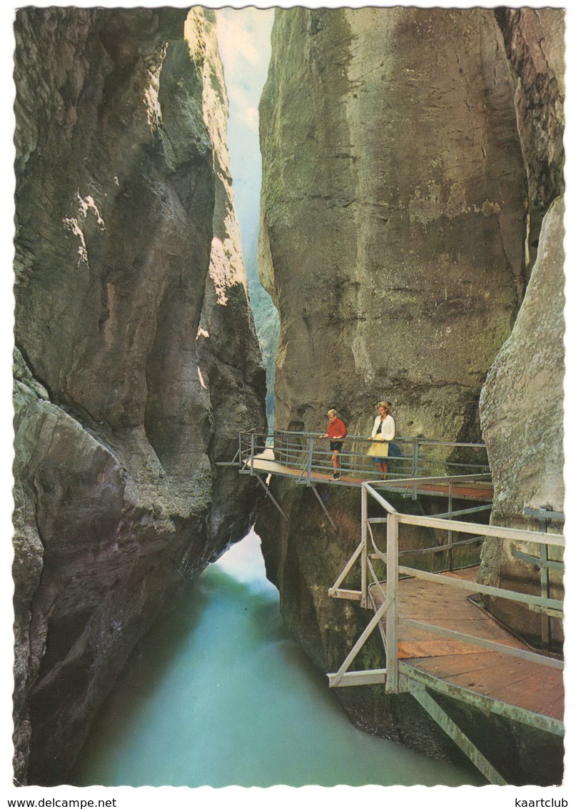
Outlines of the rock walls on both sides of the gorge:
M276 425L324 430L334 407L366 434L389 398L400 434L483 439L501 525L563 508L563 26L555 9L276 9L260 104ZM272 482L285 523L219 465L265 430L267 392L215 28L201 7L16 16L20 784L65 782L130 651L254 520L321 671L362 628L327 593L358 496L332 495L334 536L304 487ZM482 581L535 576L486 542ZM534 641L537 617L490 608ZM453 756L410 697L338 697L359 728ZM535 744L510 777L557 783L561 751L546 772Z

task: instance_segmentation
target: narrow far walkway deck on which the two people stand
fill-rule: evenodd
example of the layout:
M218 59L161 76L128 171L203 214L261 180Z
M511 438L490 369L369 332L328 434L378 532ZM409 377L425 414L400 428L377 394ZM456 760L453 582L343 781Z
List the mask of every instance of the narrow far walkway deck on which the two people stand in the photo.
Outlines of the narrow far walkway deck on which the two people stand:
M250 472L250 464L245 464L241 468L241 472ZM254 456L253 464L254 472L265 475L280 475L284 477L291 477L292 479L308 481L306 472L296 467L285 466L275 460L274 451L267 449ZM312 483L324 483L332 485L347 485L360 487L363 483L376 483L378 489L386 489L388 491L403 491L404 489L414 490L413 478L390 478L387 481L380 481L379 477L351 477L343 472L338 481L334 481L331 473L314 471L310 475ZM448 497L449 484L448 483L416 483L418 494L430 494L433 496ZM494 486L491 483L484 481L473 481L470 483L453 483L452 484L452 497L459 500L477 500L481 502L492 502L494 498Z

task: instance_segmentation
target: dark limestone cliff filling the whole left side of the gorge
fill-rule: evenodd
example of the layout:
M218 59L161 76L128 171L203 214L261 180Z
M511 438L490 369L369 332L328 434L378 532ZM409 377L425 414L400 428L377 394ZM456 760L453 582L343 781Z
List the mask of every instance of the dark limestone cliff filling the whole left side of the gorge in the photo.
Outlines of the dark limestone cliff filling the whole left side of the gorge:
M51 784L246 533L216 462L263 428L264 371L212 13L27 8L15 38L15 777Z

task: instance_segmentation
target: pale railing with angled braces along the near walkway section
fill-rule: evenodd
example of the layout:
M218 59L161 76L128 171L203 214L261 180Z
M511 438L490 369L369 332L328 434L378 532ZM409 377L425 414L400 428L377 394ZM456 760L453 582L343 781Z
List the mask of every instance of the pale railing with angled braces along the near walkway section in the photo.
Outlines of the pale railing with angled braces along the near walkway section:
M369 518L368 517L368 498L372 498L378 505L385 510L385 520L382 518ZM372 536L372 524L375 522L385 521L387 526L386 531L386 551L382 552L376 547L376 543ZM400 557L402 552L398 551L398 531L400 525L415 525L432 527L443 531L463 532L465 534L481 535L482 537L490 537L497 540L513 540L518 543L525 544L539 544L548 548L549 546L563 548L565 547L564 537L559 534L551 534L545 532L526 531L518 528L508 528L494 525L482 525L478 523L465 523L456 519L444 519L442 517L421 517L418 515L401 514L393 508L382 497L382 495L373 488L372 485L364 483L362 485L362 515L361 515L361 540L355 553L347 562L342 573L330 587L329 595L338 598L355 599L359 600L361 606L367 607L368 605L368 579L371 579L372 587L376 589L381 599L381 604L376 608L369 621L368 626L360 635L358 641L355 643L347 658L344 660L342 666L334 674L329 675L330 686L342 685L358 685L358 684L374 684L385 683L387 693L398 693L398 677L399 677L399 662L398 662L398 630L400 625L410 626L414 629L420 629L434 635L441 637L448 637L451 640L473 644L474 646L482 646L489 650L502 652L514 657L519 657L525 660L530 660L533 663L539 663L543 666L554 668L562 668L563 663L561 660L544 657L542 654L537 654L528 650L518 649L512 646L507 646L503 643L488 641L479 637L474 637L461 632L456 632L451 629L444 629L437 625L423 622L412 621L408 619L401 619L398 610L399 598L398 587L401 576L414 577L423 579L428 582L435 582L442 584L445 587L456 587L462 591L467 591L470 594L481 593L483 595L496 596L501 599L509 599L518 604L523 604L528 608L536 608L536 610L544 610L549 616L561 617L562 614L562 601L544 597L542 595L529 595L528 593L516 592L506 590L501 587L492 587L489 585L478 584L477 582L466 581L461 578L453 578L441 574L429 573L425 570L418 570L414 567L408 567L400 564ZM464 542L466 540L463 540ZM441 548L435 548L439 550ZM410 551L410 553L422 553L422 550ZM386 587L382 587L380 578L376 575L373 561L376 559L385 561L386 564ZM361 567L361 584L360 590L345 590L341 587L347 574L350 573L355 563L360 560ZM382 630L381 621L385 620L385 628ZM359 650L367 642L368 637L372 634L376 626L380 627L382 633L382 640L385 643L386 650L386 667L385 669L377 669L372 671L349 671L351 664L354 662Z

